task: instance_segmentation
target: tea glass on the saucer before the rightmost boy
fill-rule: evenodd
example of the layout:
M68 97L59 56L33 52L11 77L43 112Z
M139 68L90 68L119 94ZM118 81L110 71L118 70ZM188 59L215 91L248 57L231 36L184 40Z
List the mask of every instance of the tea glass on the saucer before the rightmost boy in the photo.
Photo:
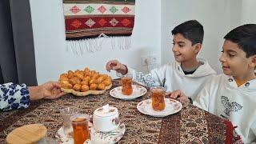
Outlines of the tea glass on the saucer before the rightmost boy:
M152 87L150 89L150 95L153 110L161 111L166 108L165 89L162 86Z

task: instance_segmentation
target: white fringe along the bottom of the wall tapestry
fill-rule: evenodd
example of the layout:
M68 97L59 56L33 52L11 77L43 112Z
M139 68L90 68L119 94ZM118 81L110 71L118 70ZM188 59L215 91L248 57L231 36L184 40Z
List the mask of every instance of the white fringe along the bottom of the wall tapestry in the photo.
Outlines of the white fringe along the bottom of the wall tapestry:
M103 37L75 41L66 41L66 50L74 54L94 53L102 50L103 42L111 42L111 49L128 50L131 46L131 37Z

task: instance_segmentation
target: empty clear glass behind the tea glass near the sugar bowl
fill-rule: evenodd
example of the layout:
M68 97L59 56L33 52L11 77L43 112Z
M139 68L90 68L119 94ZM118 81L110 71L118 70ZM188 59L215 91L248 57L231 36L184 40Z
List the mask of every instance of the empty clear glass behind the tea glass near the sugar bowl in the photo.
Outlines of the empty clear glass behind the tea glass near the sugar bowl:
M78 108L66 107L60 110L63 117L63 130L64 134L68 138L73 138L73 128L70 122L70 117L74 114L78 114Z

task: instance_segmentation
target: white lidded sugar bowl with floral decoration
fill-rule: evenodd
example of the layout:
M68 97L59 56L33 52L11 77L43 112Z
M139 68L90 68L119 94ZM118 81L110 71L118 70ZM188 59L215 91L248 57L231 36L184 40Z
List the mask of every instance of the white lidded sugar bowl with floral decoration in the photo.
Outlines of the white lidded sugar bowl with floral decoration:
M94 110L94 129L102 132L117 129L120 124L118 116L118 109L114 106L109 106L108 104Z

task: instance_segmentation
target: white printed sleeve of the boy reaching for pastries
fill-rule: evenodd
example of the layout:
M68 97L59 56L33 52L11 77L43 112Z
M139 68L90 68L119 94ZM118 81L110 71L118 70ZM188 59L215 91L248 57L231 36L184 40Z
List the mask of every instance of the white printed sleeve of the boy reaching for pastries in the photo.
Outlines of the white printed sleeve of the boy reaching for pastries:
M149 74L144 74L142 72L138 72L130 67L127 67L128 72L127 74L133 75L133 81L142 84L143 86L163 86L165 79L162 76L163 70L162 68L157 68L151 70ZM120 76L120 74L117 74Z

